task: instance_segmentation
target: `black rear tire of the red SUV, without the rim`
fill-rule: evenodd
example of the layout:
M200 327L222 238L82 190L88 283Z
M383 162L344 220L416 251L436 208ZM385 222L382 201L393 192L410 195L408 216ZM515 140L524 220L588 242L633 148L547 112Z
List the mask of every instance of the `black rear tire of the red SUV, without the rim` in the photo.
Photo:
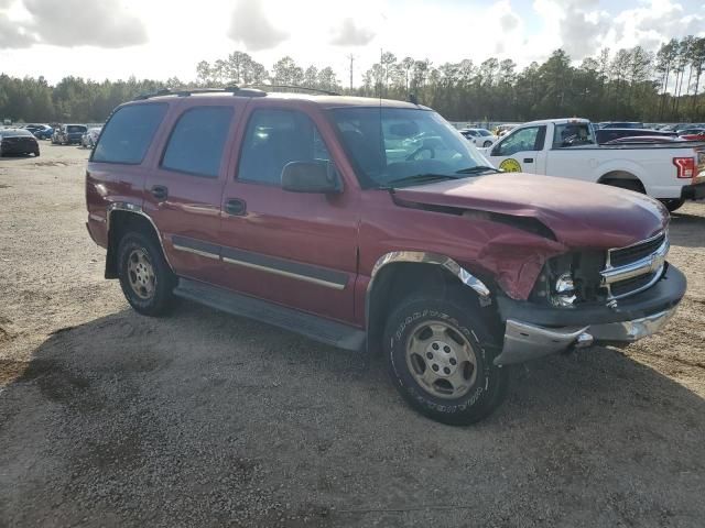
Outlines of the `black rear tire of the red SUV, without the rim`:
M152 279L143 283L141 295L133 287L137 276L130 272L130 261L140 252L144 254L153 273ZM118 245L118 277L122 293L135 311L143 316L159 317L167 314L175 306L173 294L176 277L164 260L159 242L152 237L139 232L129 232Z

